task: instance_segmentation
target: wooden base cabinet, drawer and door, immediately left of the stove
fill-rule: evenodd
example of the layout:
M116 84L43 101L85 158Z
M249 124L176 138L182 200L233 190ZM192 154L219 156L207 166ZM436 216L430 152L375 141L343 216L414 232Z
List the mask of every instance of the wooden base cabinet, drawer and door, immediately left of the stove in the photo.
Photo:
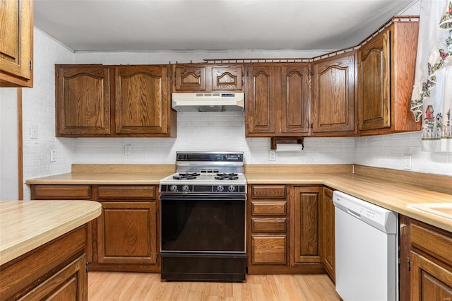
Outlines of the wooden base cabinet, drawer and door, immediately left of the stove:
M99 185L97 265L157 264L157 207L154 185Z

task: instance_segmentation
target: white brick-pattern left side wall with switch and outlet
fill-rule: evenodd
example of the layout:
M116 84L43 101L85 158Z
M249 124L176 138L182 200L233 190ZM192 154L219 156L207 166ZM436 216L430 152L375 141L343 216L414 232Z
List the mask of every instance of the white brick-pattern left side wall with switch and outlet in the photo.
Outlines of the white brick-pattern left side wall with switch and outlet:
M54 64L73 64L74 54L35 28L33 88L23 88L23 178L56 175L71 170L75 140L55 138ZM38 130L30 138L30 127ZM57 161L50 162L50 150ZM24 199L30 191L24 185Z

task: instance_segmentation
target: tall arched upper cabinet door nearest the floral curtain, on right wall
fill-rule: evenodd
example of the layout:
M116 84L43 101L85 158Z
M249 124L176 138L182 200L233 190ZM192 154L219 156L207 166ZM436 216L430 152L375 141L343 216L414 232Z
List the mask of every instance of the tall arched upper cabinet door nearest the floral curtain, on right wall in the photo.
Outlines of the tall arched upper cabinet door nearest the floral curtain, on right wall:
M391 126L390 33L382 32L358 52L359 130Z

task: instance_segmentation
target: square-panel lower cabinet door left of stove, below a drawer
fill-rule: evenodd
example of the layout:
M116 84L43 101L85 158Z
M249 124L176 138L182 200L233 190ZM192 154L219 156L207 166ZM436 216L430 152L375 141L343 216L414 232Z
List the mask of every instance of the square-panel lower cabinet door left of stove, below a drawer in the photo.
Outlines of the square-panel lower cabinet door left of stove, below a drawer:
M102 202L97 218L97 262L156 264L155 202Z

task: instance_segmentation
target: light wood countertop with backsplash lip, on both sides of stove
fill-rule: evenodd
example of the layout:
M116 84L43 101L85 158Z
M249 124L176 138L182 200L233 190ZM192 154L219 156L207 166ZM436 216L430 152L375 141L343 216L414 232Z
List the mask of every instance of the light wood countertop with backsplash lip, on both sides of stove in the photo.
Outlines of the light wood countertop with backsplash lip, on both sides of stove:
M26 183L159 184L174 168L174 165L73 165L71 173L29 179ZM326 185L452 232L451 220L407 207L410 203L452 203L452 177L361 165L245 165L245 176L248 184Z

